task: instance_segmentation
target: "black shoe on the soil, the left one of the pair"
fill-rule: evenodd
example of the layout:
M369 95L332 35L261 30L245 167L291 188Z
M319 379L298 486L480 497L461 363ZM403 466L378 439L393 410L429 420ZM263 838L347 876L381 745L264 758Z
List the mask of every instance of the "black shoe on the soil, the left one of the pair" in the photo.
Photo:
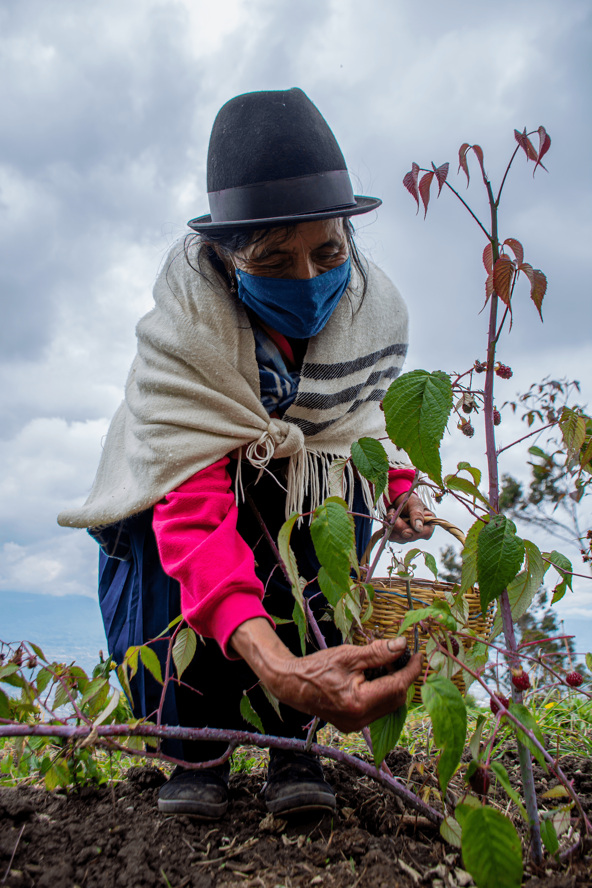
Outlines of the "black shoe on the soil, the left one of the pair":
M176 767L158 794L158 810L166 814L193 814L217 820L228 807L230 765L208 771Z

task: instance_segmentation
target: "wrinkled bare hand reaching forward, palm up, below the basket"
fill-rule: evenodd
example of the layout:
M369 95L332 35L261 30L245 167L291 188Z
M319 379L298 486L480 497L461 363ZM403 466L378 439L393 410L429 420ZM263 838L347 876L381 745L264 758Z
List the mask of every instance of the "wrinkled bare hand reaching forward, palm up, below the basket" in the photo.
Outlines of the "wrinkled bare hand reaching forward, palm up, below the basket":
M364 670L388 668L405 650L405 638L296 657L262 617L243 622L233 633L232 646L280 702L324 718L344 733L359 731L402 706L407 688L422 671L422 654L414 654L402 670L367 681Z

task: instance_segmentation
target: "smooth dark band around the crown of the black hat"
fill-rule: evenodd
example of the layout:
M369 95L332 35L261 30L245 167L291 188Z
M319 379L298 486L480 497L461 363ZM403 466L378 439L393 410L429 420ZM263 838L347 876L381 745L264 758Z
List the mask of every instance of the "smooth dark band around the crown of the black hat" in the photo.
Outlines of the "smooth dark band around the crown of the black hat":
M280 218L356 206L347 170L209 191L208 199L213 223Z

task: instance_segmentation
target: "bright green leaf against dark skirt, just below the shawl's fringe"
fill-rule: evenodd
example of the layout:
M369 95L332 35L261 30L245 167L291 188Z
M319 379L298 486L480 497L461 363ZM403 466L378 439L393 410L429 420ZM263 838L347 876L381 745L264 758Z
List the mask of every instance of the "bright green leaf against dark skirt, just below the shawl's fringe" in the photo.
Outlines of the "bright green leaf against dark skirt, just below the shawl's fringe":
M356 537L353 516L339 496L329 496L314 510L311 523L314 551L333 583L350 588L351 551Z

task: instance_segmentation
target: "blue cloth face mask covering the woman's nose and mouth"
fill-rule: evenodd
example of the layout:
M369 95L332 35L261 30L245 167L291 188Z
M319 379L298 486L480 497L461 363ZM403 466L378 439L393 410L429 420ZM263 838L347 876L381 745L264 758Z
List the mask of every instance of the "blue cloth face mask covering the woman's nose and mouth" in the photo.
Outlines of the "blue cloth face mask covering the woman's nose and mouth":
M264 278L239 268L239 298L264 323L283 336L307 339L323 329L351 277L347 258L342 266L308 281Z

